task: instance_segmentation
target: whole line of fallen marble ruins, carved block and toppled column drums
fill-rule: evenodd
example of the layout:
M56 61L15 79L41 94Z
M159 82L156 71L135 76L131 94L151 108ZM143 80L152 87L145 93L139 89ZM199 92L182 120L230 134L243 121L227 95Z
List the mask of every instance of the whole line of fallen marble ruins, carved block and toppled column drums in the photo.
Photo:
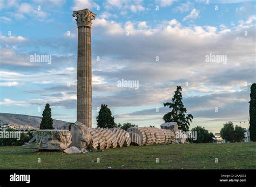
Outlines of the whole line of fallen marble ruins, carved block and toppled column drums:
M26 148L64 150L65 153L86 153L86 150L102 150L118 147L149 146L161 143L185 143L186 138L176 138L178 125L173 128L131 127L91 128L79 123L68 130L38 130ZM72 139L72 141L71 141Z

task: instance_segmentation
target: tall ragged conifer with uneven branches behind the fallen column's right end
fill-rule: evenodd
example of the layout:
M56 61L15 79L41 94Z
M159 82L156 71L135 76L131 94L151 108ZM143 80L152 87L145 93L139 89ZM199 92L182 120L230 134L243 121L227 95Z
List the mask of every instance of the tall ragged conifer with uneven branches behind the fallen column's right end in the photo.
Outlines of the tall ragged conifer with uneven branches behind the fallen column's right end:
M172 98L172 102L164 103L164 106L169 106L172 111L166 113L163 119L165 122L174 121L178 124L180 130L188 131L193 116L192 114L187 114L186 116L187 110L182 102L181 90L181 87L177 86L177 90L174 92L175 94Z

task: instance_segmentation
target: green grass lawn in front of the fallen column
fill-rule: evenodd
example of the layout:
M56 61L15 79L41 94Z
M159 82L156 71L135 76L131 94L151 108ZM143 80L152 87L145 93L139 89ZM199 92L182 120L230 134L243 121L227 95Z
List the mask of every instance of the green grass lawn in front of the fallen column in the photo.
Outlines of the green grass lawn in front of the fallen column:
M41 163L38 163L38 158ZM97 163L99 158L99 163ZM159 163L156 163L156 159ZM218 163L215 163L215 158ZM0 169L256 169L256 142L170 144L88 154L0 147Z

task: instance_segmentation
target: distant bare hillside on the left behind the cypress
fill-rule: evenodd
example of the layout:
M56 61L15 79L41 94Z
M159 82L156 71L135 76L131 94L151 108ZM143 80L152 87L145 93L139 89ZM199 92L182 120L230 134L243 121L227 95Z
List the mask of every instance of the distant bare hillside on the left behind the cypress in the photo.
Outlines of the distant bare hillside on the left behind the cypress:
M28 116L14 113L0 113L0 120L4 123L9 123L12 126L33 126L38 127L42 121L42 117ZM53 127L56 129L68 130L68 122L53 119Z

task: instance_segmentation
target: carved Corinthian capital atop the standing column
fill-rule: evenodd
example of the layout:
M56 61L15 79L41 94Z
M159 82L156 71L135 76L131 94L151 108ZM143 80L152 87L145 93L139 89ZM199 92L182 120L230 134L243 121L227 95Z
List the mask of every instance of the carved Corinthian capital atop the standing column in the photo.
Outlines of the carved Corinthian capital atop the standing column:
M77 27L92 25L92 20L95 19L96 14L89 9L73 11L73 17L76 17Z

